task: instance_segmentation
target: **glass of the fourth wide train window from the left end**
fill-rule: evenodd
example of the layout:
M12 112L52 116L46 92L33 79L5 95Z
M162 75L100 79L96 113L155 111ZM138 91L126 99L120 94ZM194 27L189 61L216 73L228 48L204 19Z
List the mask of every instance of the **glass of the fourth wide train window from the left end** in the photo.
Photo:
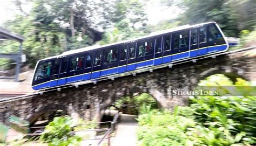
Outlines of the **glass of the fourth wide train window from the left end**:
M150 55L153 52L153 41L154 40L146 40L139 42L139 57L143 57L145 55Z

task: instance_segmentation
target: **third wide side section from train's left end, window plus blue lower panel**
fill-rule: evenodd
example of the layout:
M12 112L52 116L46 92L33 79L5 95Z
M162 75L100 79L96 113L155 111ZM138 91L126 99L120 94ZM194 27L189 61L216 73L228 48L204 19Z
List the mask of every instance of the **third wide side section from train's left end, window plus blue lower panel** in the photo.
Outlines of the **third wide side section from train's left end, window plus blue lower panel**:
M115 74L118 72L118 47L105 48L103 51L103 65L100 71L100 77Z

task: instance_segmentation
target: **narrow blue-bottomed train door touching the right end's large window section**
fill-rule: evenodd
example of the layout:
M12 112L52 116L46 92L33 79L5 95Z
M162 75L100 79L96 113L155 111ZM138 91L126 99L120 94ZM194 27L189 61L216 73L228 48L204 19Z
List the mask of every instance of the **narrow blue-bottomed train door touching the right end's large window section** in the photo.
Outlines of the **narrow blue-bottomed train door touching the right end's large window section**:
M200 27L198 31L198 55L204 55L207 53L206 26Z

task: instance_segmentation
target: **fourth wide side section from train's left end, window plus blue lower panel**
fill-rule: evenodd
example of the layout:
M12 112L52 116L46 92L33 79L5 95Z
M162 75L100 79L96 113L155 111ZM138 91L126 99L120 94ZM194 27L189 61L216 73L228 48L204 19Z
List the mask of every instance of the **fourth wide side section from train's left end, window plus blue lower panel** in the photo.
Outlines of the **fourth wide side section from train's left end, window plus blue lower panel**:
M154 39L139 41L137 44L136 68L143 68L153 65Z

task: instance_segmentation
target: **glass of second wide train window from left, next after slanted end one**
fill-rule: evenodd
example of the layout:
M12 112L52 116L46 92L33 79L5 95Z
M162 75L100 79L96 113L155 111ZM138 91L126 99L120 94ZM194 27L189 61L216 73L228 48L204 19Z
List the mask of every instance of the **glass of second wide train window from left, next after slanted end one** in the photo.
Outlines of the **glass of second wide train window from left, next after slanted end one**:
M83 69L83 65L84 65L84 56L75 55L71 57L70 72Z

